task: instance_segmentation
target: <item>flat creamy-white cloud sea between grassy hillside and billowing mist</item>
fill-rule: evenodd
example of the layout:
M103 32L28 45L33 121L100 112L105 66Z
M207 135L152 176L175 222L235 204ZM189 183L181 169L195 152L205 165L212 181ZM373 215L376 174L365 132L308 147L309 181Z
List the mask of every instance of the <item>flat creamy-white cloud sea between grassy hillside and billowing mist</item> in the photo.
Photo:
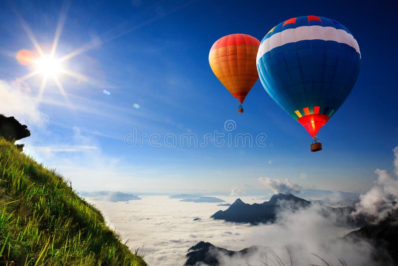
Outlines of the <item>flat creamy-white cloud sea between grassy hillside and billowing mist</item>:
M129 239L128 247L144 247L144 259L149 266L184 265L188 249L201 240L234 250L245 248L245 238L254 228L249 224L211 219L216 211L228 208L217 206L218 203L181 202L169 196L138 196L142 200L128 203L90 202L100 208L123 239ZM217 197L228 203L236 199ZM251 197L241 199L252 200ZM201 220L193 221L197 217Z

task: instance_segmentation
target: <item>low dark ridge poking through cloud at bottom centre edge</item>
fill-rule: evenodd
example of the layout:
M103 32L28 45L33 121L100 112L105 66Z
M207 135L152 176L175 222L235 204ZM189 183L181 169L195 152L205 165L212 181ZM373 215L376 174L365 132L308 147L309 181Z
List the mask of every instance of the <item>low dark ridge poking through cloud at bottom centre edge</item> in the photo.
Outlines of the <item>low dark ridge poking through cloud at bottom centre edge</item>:
M223 248L218 248L208 242L200 241L195 246L192 246L188 250L187 254L187 261L185 262L184 266L195 266L199 263L208 265L208 266L218 266L219 261L217 258L217 252L222 252L226 256L234 256L240 255L245 256L252 252L256 252L259 246L252 246L250 248L246 248L240 251L230 251Z

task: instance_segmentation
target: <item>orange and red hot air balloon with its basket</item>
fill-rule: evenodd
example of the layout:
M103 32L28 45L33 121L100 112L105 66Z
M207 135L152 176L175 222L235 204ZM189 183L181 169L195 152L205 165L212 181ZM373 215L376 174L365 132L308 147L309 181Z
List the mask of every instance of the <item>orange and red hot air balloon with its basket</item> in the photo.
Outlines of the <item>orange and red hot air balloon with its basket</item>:
M243 113L243 101L258 79L256 56L260 41L247 34L230 34L214 42L208 61L214 75L240 102L238 113Z

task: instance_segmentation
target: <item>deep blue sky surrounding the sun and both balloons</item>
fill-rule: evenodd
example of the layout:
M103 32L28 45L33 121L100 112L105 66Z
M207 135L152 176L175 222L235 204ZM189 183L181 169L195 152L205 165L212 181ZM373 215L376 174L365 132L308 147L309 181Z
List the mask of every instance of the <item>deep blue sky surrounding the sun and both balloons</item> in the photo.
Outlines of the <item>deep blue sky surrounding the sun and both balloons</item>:
M308 188L363 191L372 185L375 169L393 168L397 30L388 2L3 1L0 8L0 112L27 124L32 136L21 141L25 152L70 178L78 190L175 193L238 187L250 193L266 191L258 179L270 177ZM247 33L261 40L281 21L309 14L345 25L362 54L356 86L319 132L323 150L316 153L309 151L308 133L260 81L240 115L237 101L208 65L208 51L218 38ZM19 50L34 49L21 19L48 51L60 15L65 20L55 55L80 51L63 67L82 76L59 75L67 98L49 79L36 101L42 75L18 80L34 71L15 59ZM209 142L156 148L148 139L142 147L128 147L123 141L135 128L138 134L159 134L158 142L168 133L177 138L195 133L200 142L214 130L228 133L227 120L236 125L233 136L265 133L267 147Z

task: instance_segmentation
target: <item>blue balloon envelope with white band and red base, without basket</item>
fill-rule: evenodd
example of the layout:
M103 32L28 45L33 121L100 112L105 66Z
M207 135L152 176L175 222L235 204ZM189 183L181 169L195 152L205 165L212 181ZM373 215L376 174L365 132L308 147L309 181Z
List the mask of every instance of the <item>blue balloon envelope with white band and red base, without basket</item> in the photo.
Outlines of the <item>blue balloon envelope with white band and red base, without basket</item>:
M354 87L361 53L352 33L336 20L300 16L272 28L256 60L267 93L315 136Z

